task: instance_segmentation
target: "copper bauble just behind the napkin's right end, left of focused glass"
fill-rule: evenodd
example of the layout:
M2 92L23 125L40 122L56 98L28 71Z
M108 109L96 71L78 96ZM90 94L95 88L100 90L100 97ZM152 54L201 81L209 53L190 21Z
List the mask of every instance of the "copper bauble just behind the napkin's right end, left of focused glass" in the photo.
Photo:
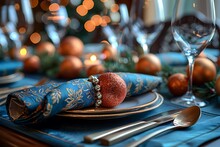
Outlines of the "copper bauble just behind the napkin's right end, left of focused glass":
M156 55L149 53L139 58L135 68L138 73L156 75L161 71L161 63Z

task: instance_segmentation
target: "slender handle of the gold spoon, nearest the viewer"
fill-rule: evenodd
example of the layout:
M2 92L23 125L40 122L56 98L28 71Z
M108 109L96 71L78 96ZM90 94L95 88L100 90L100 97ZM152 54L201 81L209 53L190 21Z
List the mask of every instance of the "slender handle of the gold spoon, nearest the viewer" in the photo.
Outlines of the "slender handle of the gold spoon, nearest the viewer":
M132 143L129 143L129 145L127 145L127 147L136 147L136 146L138 146L138 145L144 143L145 141L147 141L148 139L150 139L150 138L152 138L152 137L154 137L154 136L156 136L156 135L159 135L159 134L161 134L161 133L163 133L163 132L165 132L165 131L168 131L168 130L171 130L171 129L174 129L174 128L177 128L177 127L178 127L178 126L169 126L169 127L160 129L160 130L158 130L158 131L156 131L156 132L153 132L153 133L151 133L151 134L149 134L149 135L144 136L144 137L141 138L140 140L137 140L137 141L134 141L134 142L132 142Z

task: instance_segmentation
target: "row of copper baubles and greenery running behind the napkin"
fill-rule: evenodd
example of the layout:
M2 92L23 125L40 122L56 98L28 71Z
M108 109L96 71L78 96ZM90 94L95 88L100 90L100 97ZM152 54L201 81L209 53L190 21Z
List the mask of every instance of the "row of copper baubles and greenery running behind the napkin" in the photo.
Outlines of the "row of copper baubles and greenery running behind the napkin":
M96 50L94 48L94 50ZM83 42L75 37L65 37L59 47L45 41L39 43L35 48L35 54L26 58L24 62L24 72L28 73L46 73L49 76L62 79L74 79L79 77L89 77L91 75L102 74L105 72L126 71L148 75L168 75L165 77L169 92L173 96L181 96L186 93L188 88L188 66L184 72L175 71L166 73L159 58L152 53L141 55L138 60L128 62L124 66L119 63L117 50L108 43L103 43L101 50L102 62L100 64L85 67L82 56L84 53ZM132 63L132 64L131 64ZM125 69L125 68L126 69ZM200 87L206 83L214 83L209 86L210 91L220 95L220 77L218 68L220 67L220 58L213 62L202 52L195 60L193 71L193 85ZM170 72L170 71L169 71ZM162 73L162 74L161 74ZM213 84L212 84L213 85Z

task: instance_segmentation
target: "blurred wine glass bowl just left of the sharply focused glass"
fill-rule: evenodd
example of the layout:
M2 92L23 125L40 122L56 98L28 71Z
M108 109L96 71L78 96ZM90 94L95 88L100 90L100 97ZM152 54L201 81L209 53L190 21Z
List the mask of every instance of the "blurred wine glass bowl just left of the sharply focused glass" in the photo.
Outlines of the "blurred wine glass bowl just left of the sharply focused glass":
M143 53L149 53L151 45L164 26L165 15L162 0L133 0L130 11L132 32Z

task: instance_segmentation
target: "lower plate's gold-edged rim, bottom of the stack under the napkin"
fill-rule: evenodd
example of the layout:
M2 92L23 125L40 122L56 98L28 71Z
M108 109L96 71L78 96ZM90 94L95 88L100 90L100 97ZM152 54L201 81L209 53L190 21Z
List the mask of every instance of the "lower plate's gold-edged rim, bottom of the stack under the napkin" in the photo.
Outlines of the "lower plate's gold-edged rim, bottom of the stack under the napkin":
M134 114L140 114L144 113L153 109L156 109L163 103L163 97L159 95L158 93L155 93L158 97L158 99L150 104L147 105L141 109L134 109L133 111L128 112L119 112L119 113L99 113L99 114L83 114L83 113L66 113L62 112L57 114L59 117L66 117L66 118L75 118L75 119L90 119L90 120L103 120L103 119L115 119L115 118L121 118L121 117L127 117ZM123 102L124 103L124 102ZM106 108L107 109L107 108ZM83 110L82 110L83 111Z

